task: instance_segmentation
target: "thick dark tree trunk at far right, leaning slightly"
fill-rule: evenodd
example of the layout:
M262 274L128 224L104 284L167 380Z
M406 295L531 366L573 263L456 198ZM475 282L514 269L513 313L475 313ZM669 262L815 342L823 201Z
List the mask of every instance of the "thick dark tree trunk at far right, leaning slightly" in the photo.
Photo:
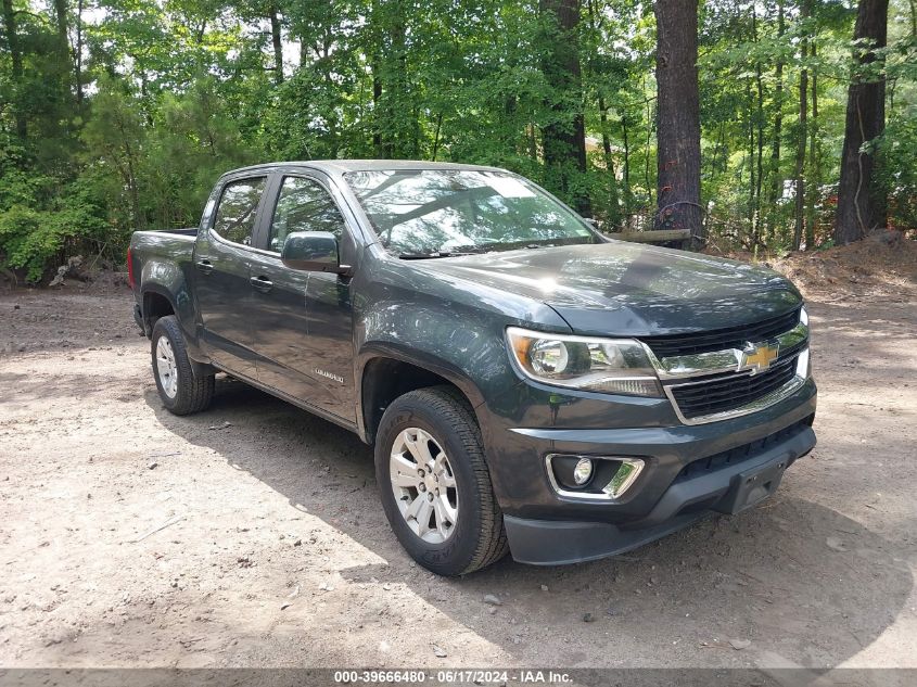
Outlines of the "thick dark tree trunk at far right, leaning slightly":
M883 193L874 182L876 164L873 150L864 143L881 136L886 128L886 78L863 73L878 62L876 48L884 48L888 35L889 0L861 0L854 39L868 48L859 56L848 89L844 144L841 154L841 180L835 243L844 245L862 239L876 227L888 224Z

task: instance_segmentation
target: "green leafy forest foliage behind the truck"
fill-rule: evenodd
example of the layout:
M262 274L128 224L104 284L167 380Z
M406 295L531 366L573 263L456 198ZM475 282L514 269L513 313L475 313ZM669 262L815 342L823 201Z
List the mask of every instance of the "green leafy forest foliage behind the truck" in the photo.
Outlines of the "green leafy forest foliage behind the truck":
M0 16L0 260L33 281L77 252L119 262L135 229L195 224L221 173L269 160L497 165L564 200L587 196L606 228L651 224L650 3L582 0L577 85L546 69L563 37L538 0L99 0L91 15L71 1L63 49L54 3L3 2L15 26ZM714 241L792 245L805 141L810 247L824 245L846 84L883 74L889 124L870 143L878 181L891 221L917 225L912 11L892 0L889 47L854 69L845 0L701 2L702 196ZM549 169L545 132L576 112L587 169Z

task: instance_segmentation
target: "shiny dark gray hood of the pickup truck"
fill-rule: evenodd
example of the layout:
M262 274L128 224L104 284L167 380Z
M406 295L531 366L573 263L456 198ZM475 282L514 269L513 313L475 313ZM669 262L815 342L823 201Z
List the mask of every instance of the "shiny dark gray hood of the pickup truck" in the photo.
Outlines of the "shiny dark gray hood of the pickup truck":
M581 334L719 329L780 315L802 302L769 269L623 241L431 259L422 266L546 303Z

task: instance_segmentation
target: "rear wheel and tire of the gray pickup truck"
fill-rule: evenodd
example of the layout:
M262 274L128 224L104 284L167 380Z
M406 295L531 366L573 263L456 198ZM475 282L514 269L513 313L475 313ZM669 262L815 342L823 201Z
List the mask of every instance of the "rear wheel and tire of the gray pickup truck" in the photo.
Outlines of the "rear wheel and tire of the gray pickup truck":
M150 338L153 379L166 410L190 415L204 410L214 397L214 376L195 377L184 336L174 315L161 317Z

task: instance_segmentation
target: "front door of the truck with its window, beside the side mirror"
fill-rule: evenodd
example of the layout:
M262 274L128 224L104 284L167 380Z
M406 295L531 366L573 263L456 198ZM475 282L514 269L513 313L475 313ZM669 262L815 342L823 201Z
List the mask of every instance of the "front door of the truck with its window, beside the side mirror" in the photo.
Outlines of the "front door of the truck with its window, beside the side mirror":
M259 241L264 250L252 263L252 283L260 283L252 320L258 381L354 422L351 279L290 269L280 253L290 233L330 231L341 262L354 265L356 242L327 181L286 174L275 188Z

